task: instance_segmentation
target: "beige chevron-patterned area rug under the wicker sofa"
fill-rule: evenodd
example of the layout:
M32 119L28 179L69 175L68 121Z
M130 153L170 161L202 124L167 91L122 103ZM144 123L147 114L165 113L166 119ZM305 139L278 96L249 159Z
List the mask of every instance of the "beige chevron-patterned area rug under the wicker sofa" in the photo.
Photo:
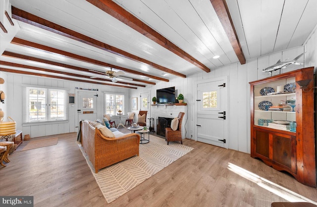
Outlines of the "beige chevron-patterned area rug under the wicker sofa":
M108 204L194 149L175 142L167 145L164 139L150 135L150 142L140 145L140 156L125 159L95 173L88 156L79 147Z

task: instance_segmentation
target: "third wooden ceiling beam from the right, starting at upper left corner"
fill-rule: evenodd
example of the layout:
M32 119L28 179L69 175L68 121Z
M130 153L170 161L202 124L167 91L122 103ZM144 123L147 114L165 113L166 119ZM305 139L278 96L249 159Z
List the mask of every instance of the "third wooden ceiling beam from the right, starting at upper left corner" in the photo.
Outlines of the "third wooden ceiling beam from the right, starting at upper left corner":
M170 74L182 77L182 78L186 78L186 75L184 75L182 73L176 72L176 71L171 70L171 69L166 68L166 67L163 67L159 64L156 64L156 63L151 62L149 60L146 60L144 58L138 57L138 56L131 54L129 52L122 51L122 50L117 49L113 46L107 45L106 43L100 42L98 40L95 40L93 38L90 38L88 36L80 34L78 32L75 32L73 30L62 27L58 24L50 22L50 21L43 19L41 17L35 16L31 13L28 13L26 11L18 9L14 6L12 6L12 18L19 20L21 22L25 22L25 23L31 24L33 26L39 27L41 29L45 29L45 30L53 32L55 34L62 35L64 37L88 44L90 46L104 50L106 52L110 52L110 53L119 55L121 57L131 59L131 60L140 62L142 64L146 64L148 66L154 67L154 68L159 69L161 71L164 71L166 73L170 73Z

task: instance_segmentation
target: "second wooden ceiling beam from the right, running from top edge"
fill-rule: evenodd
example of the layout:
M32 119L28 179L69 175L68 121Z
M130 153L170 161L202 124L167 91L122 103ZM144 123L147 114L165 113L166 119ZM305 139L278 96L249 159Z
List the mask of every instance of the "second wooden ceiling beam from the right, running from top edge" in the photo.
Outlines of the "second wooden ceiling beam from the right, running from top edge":
M95 5L96 7L100 8L101 10L105 11L109 15L113 16L114 18L118 19L119 21L123 22L124 24L128 25L129 27L133 28L134 30L138 31L139 33L151 39L152 41L156 42L163 48L177 54L181 58L194 64L200 69L206 72L210 72L210 69L206 65L204 65L203 63L195 59L193 56L177 47L175 44L167 40L165 37L160 35L157 31L149 27L147 24L143 23L137 17L133 16L131 13L124 10L121 6L119 6L112 0L87 1Z

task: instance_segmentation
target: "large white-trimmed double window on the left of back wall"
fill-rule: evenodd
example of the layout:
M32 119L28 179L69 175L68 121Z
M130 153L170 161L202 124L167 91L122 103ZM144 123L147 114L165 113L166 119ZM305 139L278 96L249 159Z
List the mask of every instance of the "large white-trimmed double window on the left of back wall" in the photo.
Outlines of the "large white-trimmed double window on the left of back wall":
M23 123L67 120L66 90L25 87Z

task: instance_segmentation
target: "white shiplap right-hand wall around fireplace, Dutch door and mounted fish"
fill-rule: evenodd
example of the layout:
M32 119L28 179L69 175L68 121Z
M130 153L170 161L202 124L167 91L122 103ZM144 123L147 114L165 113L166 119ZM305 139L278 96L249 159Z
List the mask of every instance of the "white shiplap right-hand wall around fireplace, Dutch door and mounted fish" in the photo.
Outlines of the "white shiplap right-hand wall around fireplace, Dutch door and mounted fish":
M188 116L186 122L186 137L190 138L194 133L194 117L195 108L193 94L195 90L193 88L194 82L211 79L215 77L227 76L228 77L228 92L229 92L229 143L228 148L250 153L250 85L249 82L269 77L269 73L263 73L262 69L275 64L279 59L292 59L302 52L306 52L304 57L298 61L304 63L304 65L289 65L286 69L282 69L281 73L292 71L295 69L310 67L317 65L317 32L312 34L311 38L307 41L307 44L303 47L293 48L283 52L276 52L262 57L247 60L247 63L241 65L240 63L234 63L212 69L210 73L197 73L188 76L187 78L176 78L170 80L168 83L158 83L156 86L148 87L141 90L131 90L131 97L138 97L140 93L144 91L150 92L150 98L156 96L156 90L160 88L167 88L175 86L175 89L179 93L182 93L185 97L185 102L188 104ZM304 59L305 58L305 59ZM276 72L279 74L279 71ZM275 72L273 72L275 75ZM155 107L155 106L154 106ZM137 112L137 111L135 111ZM151 108L148 118L151 116Z

